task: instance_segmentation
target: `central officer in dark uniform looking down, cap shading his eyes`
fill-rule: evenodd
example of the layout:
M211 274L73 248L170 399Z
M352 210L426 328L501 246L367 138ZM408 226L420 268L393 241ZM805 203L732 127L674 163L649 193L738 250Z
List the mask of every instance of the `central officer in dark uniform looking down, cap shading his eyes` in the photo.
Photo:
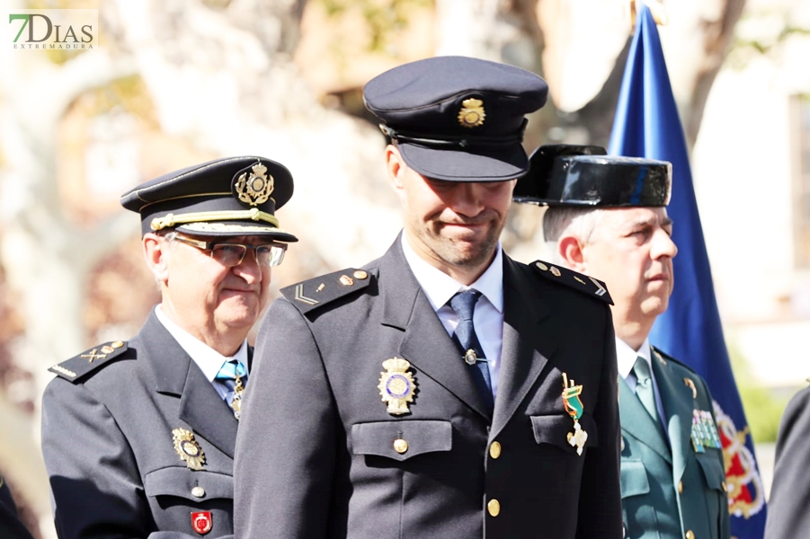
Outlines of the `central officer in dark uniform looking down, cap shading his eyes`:
M498 241L524 115L546 97L537 75L467 57L366 85L405 231L264 316L236 442L241 539L621 535L610 296Z

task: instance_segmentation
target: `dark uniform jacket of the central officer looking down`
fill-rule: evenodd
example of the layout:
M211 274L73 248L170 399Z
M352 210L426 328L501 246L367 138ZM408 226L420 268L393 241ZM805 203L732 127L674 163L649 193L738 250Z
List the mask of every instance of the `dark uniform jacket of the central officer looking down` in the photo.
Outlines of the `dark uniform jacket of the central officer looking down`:
M610 309L503 260L492 417L398 240L364 271L283 291L263 318L236 442L240 539L621 536ZM388 358L409 361L416 385L402 415L378 388ZM583 455L567 441L564 372L583 385Z

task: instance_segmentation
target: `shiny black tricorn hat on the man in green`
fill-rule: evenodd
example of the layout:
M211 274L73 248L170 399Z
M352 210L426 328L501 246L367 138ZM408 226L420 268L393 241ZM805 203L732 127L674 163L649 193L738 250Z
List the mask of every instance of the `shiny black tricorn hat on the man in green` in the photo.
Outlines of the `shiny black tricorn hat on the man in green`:
M600 146L539 146L518 180L515 202L598 208L665 207L672 163L605 155Z

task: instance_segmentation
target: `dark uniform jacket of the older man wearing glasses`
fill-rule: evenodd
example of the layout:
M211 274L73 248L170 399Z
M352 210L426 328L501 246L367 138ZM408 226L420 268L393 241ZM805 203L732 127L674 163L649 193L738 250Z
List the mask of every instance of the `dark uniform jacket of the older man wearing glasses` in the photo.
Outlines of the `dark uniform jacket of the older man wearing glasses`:
M238 423L227 403L154 312L111 356L86 373L76 358L62 363L66 376L78 376L55 378L43 397L42 453L60 539L199 537L191 523L199 511L210 513L207 538L233 534ZM201 470L182 460L174 429L193 434Z

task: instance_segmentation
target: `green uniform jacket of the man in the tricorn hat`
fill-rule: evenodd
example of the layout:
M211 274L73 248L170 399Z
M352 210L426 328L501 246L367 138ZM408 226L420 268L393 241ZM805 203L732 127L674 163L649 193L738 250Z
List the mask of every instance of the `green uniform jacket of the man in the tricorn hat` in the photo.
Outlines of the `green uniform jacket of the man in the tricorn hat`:
M728 539L723 450L706 447L697 453L690 438L692 411L708 411L714 420L706 382L655 349L652 364L666 416L666 437L627 382L619 381L626 537Z

